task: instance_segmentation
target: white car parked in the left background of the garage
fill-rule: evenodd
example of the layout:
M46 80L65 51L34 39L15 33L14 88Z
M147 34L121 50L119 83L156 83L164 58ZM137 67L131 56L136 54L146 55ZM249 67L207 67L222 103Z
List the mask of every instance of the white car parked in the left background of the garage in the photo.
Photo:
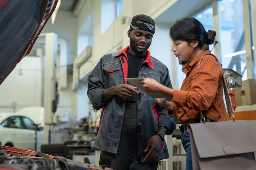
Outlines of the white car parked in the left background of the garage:
M5 146L38 151L43 144L43 113L35 112L40 107L23 111L26 109L34 113L0 113L0 141Z

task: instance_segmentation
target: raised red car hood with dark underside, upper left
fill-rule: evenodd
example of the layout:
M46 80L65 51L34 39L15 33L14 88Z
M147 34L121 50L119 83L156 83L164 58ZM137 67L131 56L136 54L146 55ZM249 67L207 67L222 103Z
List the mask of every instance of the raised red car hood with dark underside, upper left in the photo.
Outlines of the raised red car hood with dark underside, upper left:
M31 51L58 0L0 0L0 84Z

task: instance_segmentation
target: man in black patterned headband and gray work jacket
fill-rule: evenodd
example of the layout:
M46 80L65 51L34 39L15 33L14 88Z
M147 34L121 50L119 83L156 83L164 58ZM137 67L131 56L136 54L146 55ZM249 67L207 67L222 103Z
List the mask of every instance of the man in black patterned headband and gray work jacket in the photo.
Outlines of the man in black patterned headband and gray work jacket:
M115 170L157 170L158 161L168 158L164 135L176 124L167 110L127 77L150 77L172 87L168 68L147 50L155 33L155 22L135 15L130 24L130 46L107 53L88 77L88 97L101 109L95 148L101 150L100 165Z

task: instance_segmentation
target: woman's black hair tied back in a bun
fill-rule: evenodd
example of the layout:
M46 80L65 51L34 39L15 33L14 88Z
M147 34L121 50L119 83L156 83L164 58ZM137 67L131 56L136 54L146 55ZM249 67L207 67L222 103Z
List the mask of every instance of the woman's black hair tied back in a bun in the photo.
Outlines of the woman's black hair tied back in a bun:
M198 47L202 49L204 44L213 44L216 32L204 29L204 26L197 19L188 17L177 20L170 28L170 37L172 40L183 40L192 42L198 40Z

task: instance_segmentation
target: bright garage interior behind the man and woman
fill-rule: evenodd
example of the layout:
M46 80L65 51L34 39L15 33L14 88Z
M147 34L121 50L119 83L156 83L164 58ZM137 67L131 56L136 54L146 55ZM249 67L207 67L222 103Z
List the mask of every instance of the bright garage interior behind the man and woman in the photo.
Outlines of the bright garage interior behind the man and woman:
M174 89L180 88L185 75L171 51L170 26L192 16L216 30L218 43L211 51L223 68L238 73L234 116L249 122L256 139L254 0L58 0L30 53L0 85L0 114L26 116L38 126L29 149L99 164L100 151L93 144L101 110L89 102L87 77L103 54L128 45L131 18L141 13L155 20L149 50L169 68ZM169 159L161 161L159 170L184 169L178 123L173 135L166 135Z

